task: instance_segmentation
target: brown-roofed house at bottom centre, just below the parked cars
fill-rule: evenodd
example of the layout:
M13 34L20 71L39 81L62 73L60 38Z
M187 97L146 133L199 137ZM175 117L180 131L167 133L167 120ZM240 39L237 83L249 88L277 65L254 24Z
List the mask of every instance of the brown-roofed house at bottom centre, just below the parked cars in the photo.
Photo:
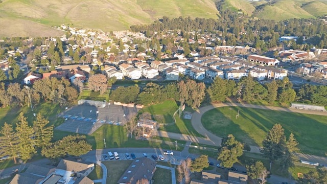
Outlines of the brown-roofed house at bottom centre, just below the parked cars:
M157 163L149 158L136 158L118 180L119 184L136 184L143 178L152 180ZM152 182L150 182L152 183Z

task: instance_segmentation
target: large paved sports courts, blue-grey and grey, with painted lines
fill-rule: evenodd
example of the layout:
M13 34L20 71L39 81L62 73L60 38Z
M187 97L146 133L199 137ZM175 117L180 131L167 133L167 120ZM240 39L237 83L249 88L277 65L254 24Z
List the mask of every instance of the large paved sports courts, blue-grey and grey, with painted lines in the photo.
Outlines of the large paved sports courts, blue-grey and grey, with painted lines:
M89 103L77 105L67 109L59 115L65 122L56 127L57 130L69 131L81 134L92 134L103 124L123 126L130 114L137 113L135 107L124 107L122 105L106 104L102 108Z

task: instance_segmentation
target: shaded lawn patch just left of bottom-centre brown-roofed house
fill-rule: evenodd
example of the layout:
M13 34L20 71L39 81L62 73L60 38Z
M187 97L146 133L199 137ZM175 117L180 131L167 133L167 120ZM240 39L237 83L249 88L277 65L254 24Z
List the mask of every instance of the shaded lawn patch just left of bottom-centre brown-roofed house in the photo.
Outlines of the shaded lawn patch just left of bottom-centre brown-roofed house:
M124 174L125 170L132 163L132 160L119 160L114 162L102 162L107 167L108 178L107 184L116 184L119 178Z

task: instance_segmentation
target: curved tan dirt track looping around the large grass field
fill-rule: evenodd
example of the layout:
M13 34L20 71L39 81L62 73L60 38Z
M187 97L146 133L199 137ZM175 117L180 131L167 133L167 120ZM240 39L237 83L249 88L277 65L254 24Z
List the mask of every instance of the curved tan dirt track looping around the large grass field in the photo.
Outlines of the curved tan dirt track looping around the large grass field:
M301 110L301 109L292 109L292 108L285 108L285 107L272 107L272 106L264 106L264 105L253 105L253 104L245 104L245 103L217 103L208 106L201 107L197 109L192 115L192 126L195 130L197 130L201 135L204 137L197 137L194 135L185 135L185 134L178 134L166 131L158 131L158 135L162 137L170 137L171 139L189 141L194 143L201 143L206 145L213 145L213 146L220 146L222 138L209 132L206 130L202 123L201 117L202 115L207 112L208 110L217 108L217 107L226 107L226 106L238 106L238 107L246 107L246 108L256 108L256 109L266 109L266 110L278 110L278 111L285 111L285 112L297 112L297 113L306 113L306 114L316 114L320 116L327 116L327 112L323 111L314 111L314 110ZM252 153L261 153L259 146L250 146ZM327 157L323 156L316 156L316 155L309 155L303 153L295 153L299 159L308 160L310 162L319 163L324 166L327 166Z

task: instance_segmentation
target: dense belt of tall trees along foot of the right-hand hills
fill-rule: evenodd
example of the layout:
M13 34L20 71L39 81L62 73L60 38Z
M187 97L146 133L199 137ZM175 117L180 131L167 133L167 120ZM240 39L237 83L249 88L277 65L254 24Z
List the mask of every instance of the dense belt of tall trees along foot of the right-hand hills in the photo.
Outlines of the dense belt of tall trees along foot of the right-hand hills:
M269 48L278 46L278 38L283 35L299 36L297 42L290 41L292 49L308 50L313 45L319 48L327 48L327 25L320 19L289 19L282 21L253 19L246 15L236 14L230 11L221 12L220 19L205 19L190 17L168 18L162 17L151 25L131 26L135 32L143 32L148 37L157 37L157 32L180 30L179 36L197 40L197 34L187 32L211 33L221 35L226 43L219 40L213 41L213 45L236 45L237 43L252 44L259 51L267 51ZM307 38L305 40L305 38ZM160 40L165 43L167 38ZM184 45L183 45L184 46Z

